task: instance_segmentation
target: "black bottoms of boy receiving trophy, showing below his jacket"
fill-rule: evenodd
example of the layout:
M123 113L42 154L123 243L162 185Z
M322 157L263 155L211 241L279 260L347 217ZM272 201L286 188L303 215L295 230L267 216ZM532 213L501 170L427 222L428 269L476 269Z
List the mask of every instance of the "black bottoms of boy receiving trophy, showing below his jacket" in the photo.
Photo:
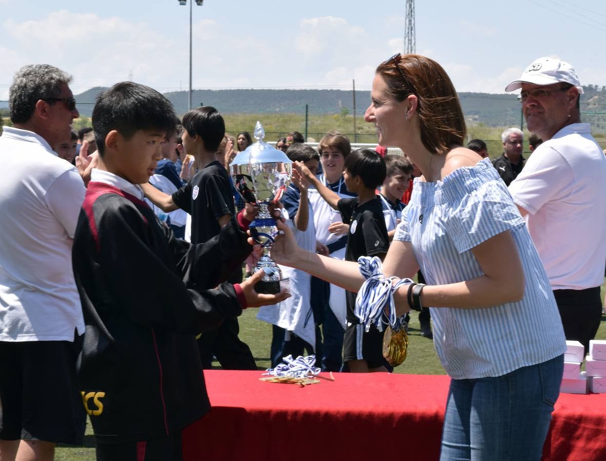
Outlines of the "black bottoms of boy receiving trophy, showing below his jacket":
M182 461L181 431L144 442L99 443L97 461Z

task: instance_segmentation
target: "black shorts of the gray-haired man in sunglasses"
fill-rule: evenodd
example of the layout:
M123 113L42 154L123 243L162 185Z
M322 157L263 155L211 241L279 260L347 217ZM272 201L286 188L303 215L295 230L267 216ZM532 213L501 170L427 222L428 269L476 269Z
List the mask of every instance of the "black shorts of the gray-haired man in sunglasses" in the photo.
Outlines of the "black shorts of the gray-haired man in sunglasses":
M81 445L86 413L76 385L80 344L0 341L0 439Z

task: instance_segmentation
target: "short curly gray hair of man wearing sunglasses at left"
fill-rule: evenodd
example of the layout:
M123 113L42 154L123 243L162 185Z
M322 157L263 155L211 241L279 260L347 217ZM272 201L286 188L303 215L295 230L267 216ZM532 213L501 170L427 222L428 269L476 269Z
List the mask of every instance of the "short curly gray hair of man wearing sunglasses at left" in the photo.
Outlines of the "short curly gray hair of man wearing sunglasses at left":
M22 67L8 90L8 108L13 123L25 123L34 113L36 102L44 98L58 98L61 84L69 84L72 76L48 64ZM54 104L50 102L49 104Z

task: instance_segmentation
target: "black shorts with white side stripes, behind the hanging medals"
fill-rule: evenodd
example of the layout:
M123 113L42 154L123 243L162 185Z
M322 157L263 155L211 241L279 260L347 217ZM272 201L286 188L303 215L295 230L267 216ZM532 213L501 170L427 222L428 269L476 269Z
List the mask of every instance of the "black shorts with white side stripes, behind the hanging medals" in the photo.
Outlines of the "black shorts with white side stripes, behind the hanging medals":
M366 360L368 368L379 368L385 365L383 357L383 331L370 326L368 332L364 325L347 322L345 337L343 339L343 360Z

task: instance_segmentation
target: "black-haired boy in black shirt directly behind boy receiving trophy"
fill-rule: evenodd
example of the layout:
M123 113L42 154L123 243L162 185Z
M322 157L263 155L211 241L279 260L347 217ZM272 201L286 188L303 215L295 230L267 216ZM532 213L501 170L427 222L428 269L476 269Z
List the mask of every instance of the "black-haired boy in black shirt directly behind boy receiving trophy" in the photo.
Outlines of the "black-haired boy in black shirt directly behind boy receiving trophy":
M150 184L142 185L145 196L165 213L181 208L191 214L191 243L201 244L215 237L236 216L231 182L225 168L217 161L216 151L225 135L225 122L214 107L196 107L184 115L183 147L193 154L201 167L190 181L172 195ZM209 262L209 264L212 264ZM227 279L242 281L239 268ZM216 356L225 370L256 370L255 359L239 337L238 319L226 319L215 330L198 339L202 366L211 368Z

